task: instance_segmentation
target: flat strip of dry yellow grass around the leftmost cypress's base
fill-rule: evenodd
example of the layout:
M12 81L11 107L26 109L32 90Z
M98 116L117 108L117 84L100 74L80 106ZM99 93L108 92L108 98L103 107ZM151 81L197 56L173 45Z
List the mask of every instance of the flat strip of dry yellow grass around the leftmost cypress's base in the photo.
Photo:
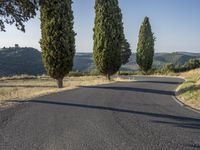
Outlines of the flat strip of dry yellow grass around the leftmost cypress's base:
M111 81L113 82L113 81ZM79 86L111 83L102 76L68 77L64 88L58 89L56 82L49 77L12 77L0 79L0 104L8 100L25 100L50 93L74 89Z

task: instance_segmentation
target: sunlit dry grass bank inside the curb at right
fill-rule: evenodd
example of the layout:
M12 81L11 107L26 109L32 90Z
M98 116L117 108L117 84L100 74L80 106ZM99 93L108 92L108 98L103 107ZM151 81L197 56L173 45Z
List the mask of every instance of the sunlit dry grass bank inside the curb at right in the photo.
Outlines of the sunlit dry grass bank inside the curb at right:
M200 109L200 69L181 73L181 77L185 78L178 89L178 98L193 108Z

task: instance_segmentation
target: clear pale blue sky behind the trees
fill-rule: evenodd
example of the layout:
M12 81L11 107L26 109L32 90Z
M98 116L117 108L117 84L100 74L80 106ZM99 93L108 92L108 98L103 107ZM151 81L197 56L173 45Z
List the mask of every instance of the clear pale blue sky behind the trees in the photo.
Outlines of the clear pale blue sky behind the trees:
M77 52L92 52L95 0L74 0L74 30ZM156 52L200 52L200 0L119 0L126 38L136 51L140 25L150 18L156 37ZM26 23L26 32L6 26L0 33L0 47L34 47L40 50L39 13Z

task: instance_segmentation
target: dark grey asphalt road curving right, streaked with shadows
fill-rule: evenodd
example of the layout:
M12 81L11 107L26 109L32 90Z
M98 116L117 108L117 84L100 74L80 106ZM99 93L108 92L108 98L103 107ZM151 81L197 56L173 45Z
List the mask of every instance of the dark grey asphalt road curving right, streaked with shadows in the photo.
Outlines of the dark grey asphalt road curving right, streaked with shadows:
M0 111L0 150L200 149L200 114L172 99L182 80L136 78Z

